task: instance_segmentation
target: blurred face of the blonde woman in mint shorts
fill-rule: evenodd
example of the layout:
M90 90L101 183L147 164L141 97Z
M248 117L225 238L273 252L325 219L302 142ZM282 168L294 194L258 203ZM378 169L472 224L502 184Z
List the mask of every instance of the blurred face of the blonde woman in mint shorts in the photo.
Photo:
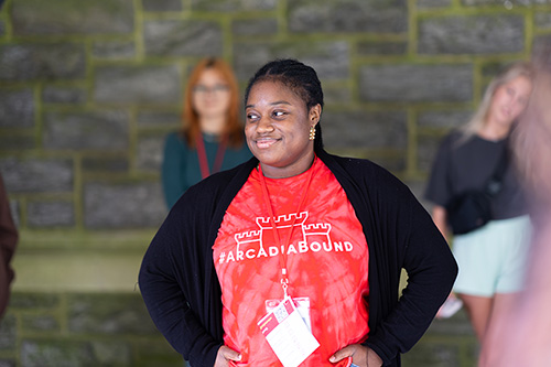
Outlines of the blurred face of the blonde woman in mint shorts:
M500 85L494 93L488 121L510 127L526 109L532 91L532 83L525 76Z

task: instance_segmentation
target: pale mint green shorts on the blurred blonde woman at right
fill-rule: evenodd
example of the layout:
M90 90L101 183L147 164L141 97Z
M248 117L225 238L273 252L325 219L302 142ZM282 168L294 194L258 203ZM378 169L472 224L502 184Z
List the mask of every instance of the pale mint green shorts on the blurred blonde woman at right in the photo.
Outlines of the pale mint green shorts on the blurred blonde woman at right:
M453 239L460 266L455 293L493 296L522 290L530 247L528 215L491 220L486 226Z

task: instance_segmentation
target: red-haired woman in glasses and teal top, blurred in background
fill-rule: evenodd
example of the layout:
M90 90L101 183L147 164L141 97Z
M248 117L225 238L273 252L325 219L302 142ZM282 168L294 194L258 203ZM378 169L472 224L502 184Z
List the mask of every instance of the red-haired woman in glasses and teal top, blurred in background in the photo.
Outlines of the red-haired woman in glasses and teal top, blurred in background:
M187 82L183 127L165 140L162 184L169 208L190 186L252 156L239 108L238 85L228 64L201 61Z

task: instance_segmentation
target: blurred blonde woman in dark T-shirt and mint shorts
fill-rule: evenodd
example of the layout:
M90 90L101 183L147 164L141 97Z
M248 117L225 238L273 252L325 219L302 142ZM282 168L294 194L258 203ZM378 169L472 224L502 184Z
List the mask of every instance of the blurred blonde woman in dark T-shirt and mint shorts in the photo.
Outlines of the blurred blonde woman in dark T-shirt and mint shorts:
M486 193L490 182L497 183L491 198L485 197L490 220L468 233L454 230L453 239L460 266L454 292L480 342L523 281L531 225L508 138L528 105L532 73L530 64L516 63L491 80L472 120L443 140L425 192L434 203L434 223L450 238L450 204L469 191Z

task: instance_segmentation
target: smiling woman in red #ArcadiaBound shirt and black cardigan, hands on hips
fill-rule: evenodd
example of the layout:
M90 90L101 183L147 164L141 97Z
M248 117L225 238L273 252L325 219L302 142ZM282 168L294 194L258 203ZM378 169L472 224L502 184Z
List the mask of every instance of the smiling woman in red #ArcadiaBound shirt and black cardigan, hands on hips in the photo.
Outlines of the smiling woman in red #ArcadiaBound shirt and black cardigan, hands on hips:
M399 366L455 279L447 244L398 179L323 149L312 67L268 63L245 99L255 158L159 229L140 270L151 317L192 366Z

